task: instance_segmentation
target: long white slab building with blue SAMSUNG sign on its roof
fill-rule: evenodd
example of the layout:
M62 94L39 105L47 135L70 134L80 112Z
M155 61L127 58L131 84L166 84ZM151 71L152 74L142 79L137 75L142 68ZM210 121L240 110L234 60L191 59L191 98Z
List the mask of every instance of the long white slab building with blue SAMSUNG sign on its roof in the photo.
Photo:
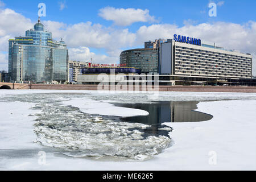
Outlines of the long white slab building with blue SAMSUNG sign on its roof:
M159 48L159 75L251 78L252 59L248 53L175 35Z

